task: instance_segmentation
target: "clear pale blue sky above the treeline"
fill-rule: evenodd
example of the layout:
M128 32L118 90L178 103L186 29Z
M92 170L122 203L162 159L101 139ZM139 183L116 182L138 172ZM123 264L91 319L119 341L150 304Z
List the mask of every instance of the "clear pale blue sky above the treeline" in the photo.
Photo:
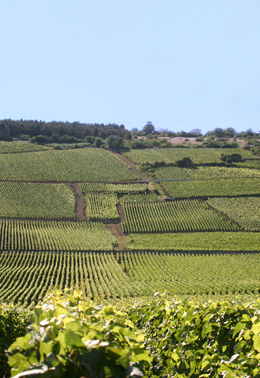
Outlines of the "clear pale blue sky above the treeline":
M0 0L0 119L260 130L260 0Z

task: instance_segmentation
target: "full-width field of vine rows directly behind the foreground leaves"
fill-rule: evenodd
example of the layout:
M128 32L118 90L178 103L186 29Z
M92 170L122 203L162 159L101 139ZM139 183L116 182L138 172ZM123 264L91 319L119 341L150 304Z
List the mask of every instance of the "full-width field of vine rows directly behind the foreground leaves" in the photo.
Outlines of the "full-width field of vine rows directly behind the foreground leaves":
M149 252L1 252L0 298L37 303L50 288L82 290L89 298L254 294L257 254L201 255ZM127 274L126 274L127 272Z

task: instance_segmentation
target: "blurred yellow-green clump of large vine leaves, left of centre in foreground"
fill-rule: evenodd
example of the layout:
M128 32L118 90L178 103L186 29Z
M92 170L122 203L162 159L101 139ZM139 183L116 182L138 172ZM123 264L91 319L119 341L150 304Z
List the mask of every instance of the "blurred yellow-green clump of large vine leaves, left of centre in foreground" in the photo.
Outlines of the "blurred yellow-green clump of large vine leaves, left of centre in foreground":
M12 377L141 377L139 368L150 366L144 335L127 315L80 292L51 294L30 330L8 350Z

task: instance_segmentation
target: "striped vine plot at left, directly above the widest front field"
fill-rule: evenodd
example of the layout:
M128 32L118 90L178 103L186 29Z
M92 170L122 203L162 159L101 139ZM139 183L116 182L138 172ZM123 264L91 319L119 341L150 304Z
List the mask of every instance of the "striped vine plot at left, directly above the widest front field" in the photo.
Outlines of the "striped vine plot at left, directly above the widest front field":
M111 251L115 244L101 223L0 220L0 250Z

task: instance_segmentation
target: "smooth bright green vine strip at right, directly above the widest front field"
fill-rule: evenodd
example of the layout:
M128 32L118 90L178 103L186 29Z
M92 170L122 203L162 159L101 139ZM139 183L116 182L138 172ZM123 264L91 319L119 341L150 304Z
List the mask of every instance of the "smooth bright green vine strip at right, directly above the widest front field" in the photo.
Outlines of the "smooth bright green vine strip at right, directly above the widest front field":
M260 251L259 232L131 234L133 251Z

